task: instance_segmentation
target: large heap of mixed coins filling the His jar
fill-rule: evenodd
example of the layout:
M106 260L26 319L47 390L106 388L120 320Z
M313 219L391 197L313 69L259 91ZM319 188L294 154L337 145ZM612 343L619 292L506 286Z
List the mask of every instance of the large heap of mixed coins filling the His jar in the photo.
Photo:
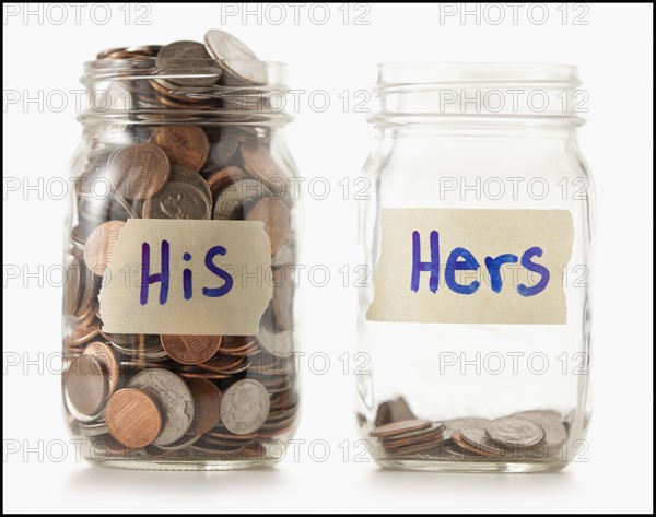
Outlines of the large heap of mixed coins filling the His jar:
M291 164L276 156L272 130L251 116L248 95L226 104L224 94L263 91L267 67L222 31L208 32L204 45L115 48L97 59L139 73L116 81L130 92L133 110L92 131L75 164L81 174L63 305L71 430L117 458L266 459L267 443L291 432L298 408L288 361L294 350ZM216 108L226 105L223 117ZM154 107L166 116L154 116ZM186 118L171 116L171 108ZM104 332L98 294L130 218L262 221L276 286L258 336Z

